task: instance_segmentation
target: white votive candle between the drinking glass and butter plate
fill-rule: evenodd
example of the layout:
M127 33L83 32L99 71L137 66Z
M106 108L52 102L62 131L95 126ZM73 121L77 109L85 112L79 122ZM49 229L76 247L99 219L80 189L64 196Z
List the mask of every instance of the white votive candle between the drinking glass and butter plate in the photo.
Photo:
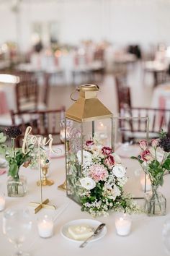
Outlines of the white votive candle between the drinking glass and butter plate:
M54 224L51 218L48 216L44 216L44 218L40 219L37 224L38 233L43 238L48 238L53 236L53 228Z

